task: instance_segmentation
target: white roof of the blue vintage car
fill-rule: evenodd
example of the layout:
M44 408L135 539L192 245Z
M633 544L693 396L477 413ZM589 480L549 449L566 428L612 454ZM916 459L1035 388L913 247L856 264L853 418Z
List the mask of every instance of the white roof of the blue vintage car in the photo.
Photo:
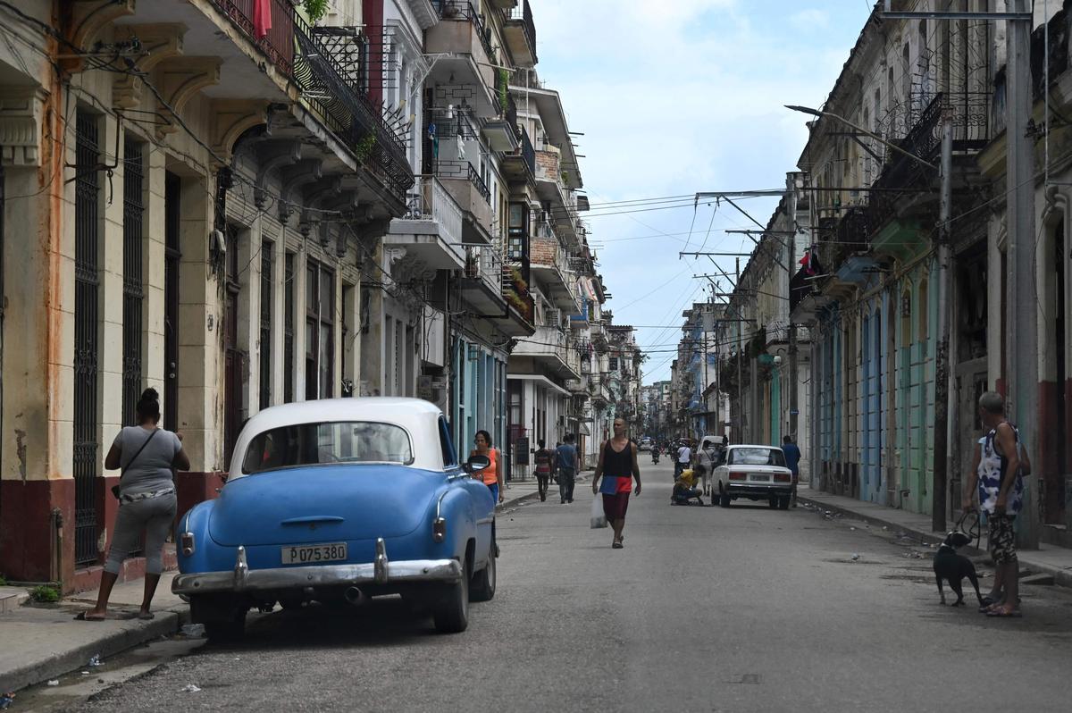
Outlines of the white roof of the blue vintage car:
M440 447L438 421L443 412L423 399L401 397L360 397L295 401L271 406L251 417L242 427L230 458L229 479L244 477L242 460L250 441L283 426L331 421L374 421L403 428L412 440L413 463L410 467L442 471L443 450Z

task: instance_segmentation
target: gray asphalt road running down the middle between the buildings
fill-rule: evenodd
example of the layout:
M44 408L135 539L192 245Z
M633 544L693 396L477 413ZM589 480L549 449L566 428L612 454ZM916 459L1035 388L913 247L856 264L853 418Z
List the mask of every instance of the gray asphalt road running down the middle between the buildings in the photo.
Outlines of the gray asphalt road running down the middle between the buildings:
M645 467L622 550L589 528L586 486L572 505L501 515L498 593L464 634L391 599L277 611L240 645L202 645L70 710L1072 707L1068 592L1026 588L1022 620L942 607L930 550L898 533L803 508L671 507L670 473Z

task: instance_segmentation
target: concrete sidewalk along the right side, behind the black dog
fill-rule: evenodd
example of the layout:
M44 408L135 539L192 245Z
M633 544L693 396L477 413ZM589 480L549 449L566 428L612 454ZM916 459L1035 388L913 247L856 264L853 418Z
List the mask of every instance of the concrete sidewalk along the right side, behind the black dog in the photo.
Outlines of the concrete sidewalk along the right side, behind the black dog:
M898 510L878 503L865 503L844 495L833 495L821 490L801 489L796 496L804 505L839 513L845 517L863 520L872 524L885 525L891 530L910 533L926 543L941 543L944 532L930 529L930 516ZM950 530L954 522L949 522ZM986 552L986 526L983 526L980 541L981 553ZM1032 575L1048 575L1055 584L1072 586L1072 550L1053 545L1040 545L1037 550L1019 550L1021 570L1030 570Z

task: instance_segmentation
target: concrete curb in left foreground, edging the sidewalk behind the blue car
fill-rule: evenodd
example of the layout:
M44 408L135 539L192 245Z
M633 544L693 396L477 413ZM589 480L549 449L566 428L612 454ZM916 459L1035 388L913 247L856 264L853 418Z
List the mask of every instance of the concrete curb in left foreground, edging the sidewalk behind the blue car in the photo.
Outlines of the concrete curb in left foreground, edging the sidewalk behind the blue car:
M138 621L138 620L133 620ZM84 669L91 656L100 654L107 662L123 652L158 639L168 634L177 633L183 624L190 621L189 610L158 611L157 618L139 626L113 632L92 643L83 644L76 649L54 654L43 660L30 662L19 668L8 671L0 677L0 690L18 690L58 679L61 675ZM84 626L93 626L88 622L79 622ZM72 625L76 625L72 622Z

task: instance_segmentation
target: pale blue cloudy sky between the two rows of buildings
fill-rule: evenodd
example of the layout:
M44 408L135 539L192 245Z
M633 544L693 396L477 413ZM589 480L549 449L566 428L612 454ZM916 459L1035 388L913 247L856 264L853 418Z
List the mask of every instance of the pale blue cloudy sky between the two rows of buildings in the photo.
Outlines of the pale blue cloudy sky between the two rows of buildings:
M783 105L823 102L873 2L531 2L540 79L584 133L575 143L614 322L644 325L644 383L669 378L681 311L706 297L690 276L711 267L678 252L745 251L747 238L723 231L755 225L725 204L694 213L688 197L621 202L784 187L807 130ZM765 224L777 200L740 205ZM719 259L732 273L733 258Z

